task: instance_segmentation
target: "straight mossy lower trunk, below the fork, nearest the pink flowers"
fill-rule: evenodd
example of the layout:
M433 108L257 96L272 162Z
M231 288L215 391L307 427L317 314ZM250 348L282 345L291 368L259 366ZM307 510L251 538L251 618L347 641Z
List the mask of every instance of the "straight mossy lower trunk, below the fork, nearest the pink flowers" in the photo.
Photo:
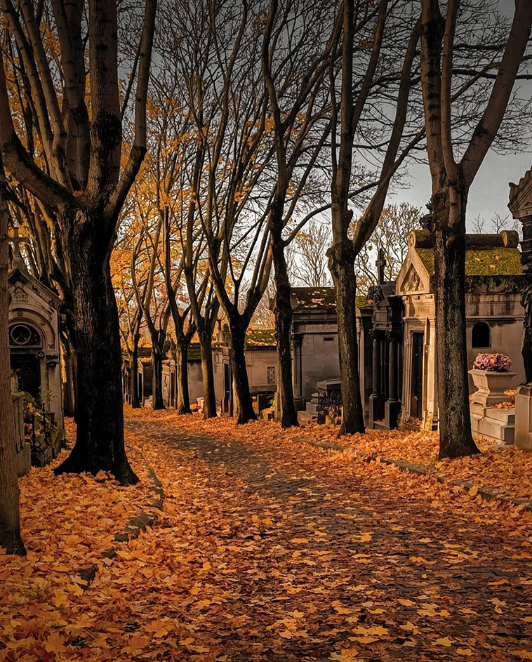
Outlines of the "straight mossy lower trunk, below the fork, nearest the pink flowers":
M460 197L460 218L451 219L453 223L448 222L452 213L448 196L441 193L432 198L440 458L458 458L479 452L471 433L465 335L467 195L463 193Z

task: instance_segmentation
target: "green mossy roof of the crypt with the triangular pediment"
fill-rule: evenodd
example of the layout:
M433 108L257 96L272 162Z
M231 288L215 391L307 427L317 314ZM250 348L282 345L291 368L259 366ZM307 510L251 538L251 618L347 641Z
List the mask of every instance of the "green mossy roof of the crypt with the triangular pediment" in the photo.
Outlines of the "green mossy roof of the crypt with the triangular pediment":
M423 266L434 275L434 251L416 248ZM520 276L521 253L518 249L497 246L496 248L474 248L465 252L466 276Z

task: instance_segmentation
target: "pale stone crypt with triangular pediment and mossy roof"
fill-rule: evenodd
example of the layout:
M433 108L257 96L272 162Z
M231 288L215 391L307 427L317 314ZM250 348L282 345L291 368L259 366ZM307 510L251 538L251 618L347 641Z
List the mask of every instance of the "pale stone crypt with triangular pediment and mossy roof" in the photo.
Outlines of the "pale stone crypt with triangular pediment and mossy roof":
M467 364L479 352L502 353L512 359L522 380L524 275L517 232L466 235ZM427 230L408 235L408 254L397 277L396 294L403 302L402 425L437 428L436 310L434 251ZM470 378L470 391L474 385Z

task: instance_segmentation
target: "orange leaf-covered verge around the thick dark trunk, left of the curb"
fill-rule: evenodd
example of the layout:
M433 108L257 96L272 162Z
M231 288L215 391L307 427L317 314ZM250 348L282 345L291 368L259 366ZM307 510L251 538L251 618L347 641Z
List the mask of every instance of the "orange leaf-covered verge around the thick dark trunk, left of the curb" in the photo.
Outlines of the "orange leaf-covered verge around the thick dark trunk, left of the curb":
M67 421L66 427L74 439L75 426ZM135 448L129 457L141 482L130 488L103 472L55 476L53 468L67 452L19 481L27 556L0 553L1 661L55 659L56 628L65 625L65 614L86 586L79 572L93 564L104 567L103 552L117 546L114 534L154 501L145 462Z

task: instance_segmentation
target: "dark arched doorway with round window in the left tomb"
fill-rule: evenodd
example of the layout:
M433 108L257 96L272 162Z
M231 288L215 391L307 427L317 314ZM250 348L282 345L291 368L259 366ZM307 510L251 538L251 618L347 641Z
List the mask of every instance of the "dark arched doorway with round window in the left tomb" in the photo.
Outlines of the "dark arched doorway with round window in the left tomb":
M41 398L41 360L43 343L39 331L26 322L9 326L11 370L18 378L18 388L35 399Z

